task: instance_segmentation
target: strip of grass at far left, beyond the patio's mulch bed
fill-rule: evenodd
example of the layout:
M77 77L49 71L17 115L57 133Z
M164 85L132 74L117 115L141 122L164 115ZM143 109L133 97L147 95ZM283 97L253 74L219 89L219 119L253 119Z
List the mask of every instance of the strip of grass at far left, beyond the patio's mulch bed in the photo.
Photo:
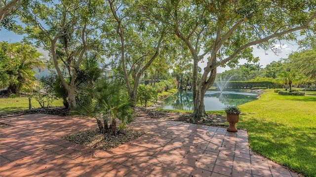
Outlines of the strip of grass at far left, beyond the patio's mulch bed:
M53 106L63 106L63 100L55 100ZM40 104L32 99L32 107L40 108ZM0 99L0 112L13 112L29 108L29 100L27 97L18 98L1 98Z

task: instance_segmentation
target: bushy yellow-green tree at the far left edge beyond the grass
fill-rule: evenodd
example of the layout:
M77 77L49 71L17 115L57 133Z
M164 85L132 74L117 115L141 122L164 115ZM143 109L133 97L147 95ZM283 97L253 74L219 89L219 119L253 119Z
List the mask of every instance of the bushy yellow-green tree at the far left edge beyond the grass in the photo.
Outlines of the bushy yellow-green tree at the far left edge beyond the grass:
M37 73L44 66L41 54L28 44L0 42L0 87L19 94L21 89L30 89L36 84Z

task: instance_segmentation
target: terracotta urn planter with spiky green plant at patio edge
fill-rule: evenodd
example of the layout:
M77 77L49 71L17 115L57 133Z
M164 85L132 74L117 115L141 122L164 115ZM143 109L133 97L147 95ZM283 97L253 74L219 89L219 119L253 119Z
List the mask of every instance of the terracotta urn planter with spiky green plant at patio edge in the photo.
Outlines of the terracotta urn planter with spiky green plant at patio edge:
M227 122L229 122L229 127L227 128L227 131L237 132L235 124L239 120L239 107L237 105L226 105L224 110L226 112L226 120Z

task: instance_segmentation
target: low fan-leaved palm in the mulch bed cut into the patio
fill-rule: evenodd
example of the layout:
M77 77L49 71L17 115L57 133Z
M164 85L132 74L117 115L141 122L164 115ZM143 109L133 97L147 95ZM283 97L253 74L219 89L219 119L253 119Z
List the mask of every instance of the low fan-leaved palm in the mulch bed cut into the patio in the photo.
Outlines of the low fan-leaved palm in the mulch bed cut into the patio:
M117 135L117 119L120 130L133 120L133 102L121 83L102 78L92 84L84 82L79 88L81 101L72 112L94 117L101 133L111 130Z

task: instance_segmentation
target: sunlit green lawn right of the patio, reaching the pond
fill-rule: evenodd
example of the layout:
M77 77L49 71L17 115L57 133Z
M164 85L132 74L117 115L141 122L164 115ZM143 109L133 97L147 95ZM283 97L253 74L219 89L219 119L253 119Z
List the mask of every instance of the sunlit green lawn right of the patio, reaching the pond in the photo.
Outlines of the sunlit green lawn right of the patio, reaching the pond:
M247 129L252 150L309 177L316 177L316 96L277 95L240 105L238 129Z

